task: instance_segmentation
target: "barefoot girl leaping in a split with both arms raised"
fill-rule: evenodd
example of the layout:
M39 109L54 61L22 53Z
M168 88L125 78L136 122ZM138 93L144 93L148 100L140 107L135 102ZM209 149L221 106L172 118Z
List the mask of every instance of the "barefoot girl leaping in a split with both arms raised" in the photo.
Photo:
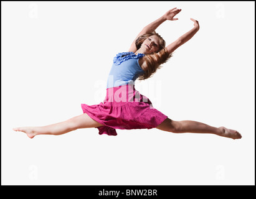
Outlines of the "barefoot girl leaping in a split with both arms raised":
M168 132L209 133L240 139L239 132L225 127L212 127L196 121L173 121L153 108L146 96L135 90L134 81L151 77L159 66L165 63L174 50L190 40L199 30L198 21L194 27L165 47L165 41L154 30L164 21L176 21L176 7L141 30L128 52L118 53L113 59L107 82L107 96L103 103L88 106L81 104L83 114L67 121L41 127L16 127L30 138L39 134L60 135L75 129L97 127L99 134L116 136L115 129L151 129Z

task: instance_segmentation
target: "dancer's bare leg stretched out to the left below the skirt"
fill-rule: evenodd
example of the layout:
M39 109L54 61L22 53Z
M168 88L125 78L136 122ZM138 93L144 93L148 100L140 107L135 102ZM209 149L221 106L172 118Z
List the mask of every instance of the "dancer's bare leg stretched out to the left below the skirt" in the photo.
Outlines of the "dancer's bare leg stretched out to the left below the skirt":
M70 131L81 128L89 127L100 127L102 124L98 123L94 119L90 118L88 114L84 113L79 116L75 116L67 121L50 124L47 126L39 127L16 127L13 128L14 131L26 132L27 136L33 138L36 135L47 134L47 135L61 135Z

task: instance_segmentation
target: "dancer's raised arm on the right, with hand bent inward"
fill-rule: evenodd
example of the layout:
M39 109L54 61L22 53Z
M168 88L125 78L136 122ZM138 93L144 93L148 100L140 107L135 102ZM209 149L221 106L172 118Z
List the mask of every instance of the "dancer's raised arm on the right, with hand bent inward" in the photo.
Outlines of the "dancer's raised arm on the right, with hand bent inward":
M186 32L184 35L179 37L176 41L174 41L173 43L169 44L166 47L166 50L168 51L169 54L173 53L174 50L178 49L178 47L180 47L181 45L185 44L199 30L199 23L198 23L198 21L196 21L196 20L194 20L192 18L191 18L191 20L194 22L194 27L191 30L189 30L188 32Z

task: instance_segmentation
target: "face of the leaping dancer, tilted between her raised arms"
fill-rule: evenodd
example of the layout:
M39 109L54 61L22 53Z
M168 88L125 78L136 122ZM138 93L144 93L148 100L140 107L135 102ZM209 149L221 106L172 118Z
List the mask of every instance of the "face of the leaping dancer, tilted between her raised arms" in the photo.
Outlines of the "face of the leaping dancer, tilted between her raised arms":
M159 50L159 39L158 36L152 35L145 39L145 41L141 44L141 48L145 51L145 53L151 54L154 52L158 52Z

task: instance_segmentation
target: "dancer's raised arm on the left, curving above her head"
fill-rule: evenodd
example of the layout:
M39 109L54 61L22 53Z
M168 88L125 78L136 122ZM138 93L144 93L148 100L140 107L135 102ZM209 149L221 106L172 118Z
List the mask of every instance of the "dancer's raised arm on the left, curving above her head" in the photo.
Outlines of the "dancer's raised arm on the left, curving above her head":
M154 32L154 30L156 30L158 28L158 26L160 24L162 24L164 21L166 20L170 20L170 21L176 21L178 20L178 18L174 18L174 16L176 16L176 14L178 14L179 12L181 12L181 9L177 9L176 7L174 7L173 9L167 11L163 16L161 16L159 19L156 19L156 21L151 22L150 24L146 25L141 32L137 35L137 37L135 38L135 40L133 41L133 43L131 44L131 47L129 49L129 52L136 52L138 49L136 48L135 45L135 41L138 39L138 37L140 37L143 34L149 34Z

